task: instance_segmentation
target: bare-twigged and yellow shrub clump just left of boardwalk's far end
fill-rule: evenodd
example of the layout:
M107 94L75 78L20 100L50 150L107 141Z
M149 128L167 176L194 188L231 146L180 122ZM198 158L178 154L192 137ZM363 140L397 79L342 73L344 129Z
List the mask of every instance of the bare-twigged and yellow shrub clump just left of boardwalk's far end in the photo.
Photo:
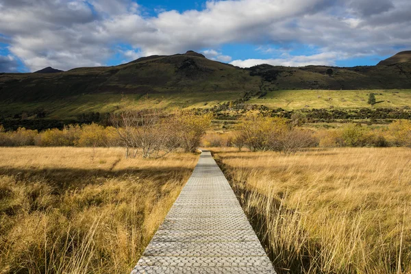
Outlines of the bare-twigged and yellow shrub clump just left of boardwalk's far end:
M159 158L177 147L195 151L210 127L212 114L177 113L173 116L158 110L125 110L112 116L126 157L140 152L142 158Z

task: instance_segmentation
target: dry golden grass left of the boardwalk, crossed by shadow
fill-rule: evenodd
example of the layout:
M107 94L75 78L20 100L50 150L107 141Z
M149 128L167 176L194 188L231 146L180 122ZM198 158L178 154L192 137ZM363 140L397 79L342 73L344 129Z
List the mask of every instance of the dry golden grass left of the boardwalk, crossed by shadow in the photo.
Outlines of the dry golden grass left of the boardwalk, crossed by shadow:
M0 148L0 273L129 273L198 155L123 154Z

